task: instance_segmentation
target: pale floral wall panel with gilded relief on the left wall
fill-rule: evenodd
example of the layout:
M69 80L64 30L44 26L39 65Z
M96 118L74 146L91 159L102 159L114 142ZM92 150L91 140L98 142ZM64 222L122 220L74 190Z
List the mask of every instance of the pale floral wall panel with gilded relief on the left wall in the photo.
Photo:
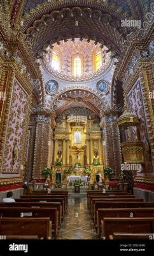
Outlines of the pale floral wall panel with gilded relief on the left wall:
M18 174L22 170L21 160L22 154L24 154L25 118L28 115L27 103L28 93L15 79L3 155L1 172L3 174Z

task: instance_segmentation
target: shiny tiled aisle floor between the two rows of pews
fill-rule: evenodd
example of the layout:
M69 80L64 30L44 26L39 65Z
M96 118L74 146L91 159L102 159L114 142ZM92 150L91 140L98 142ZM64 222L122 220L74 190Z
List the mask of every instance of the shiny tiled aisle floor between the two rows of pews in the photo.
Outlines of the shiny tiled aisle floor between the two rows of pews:
M67 212L58 239L97 239L92 218L87 209L87 195L69 197Z

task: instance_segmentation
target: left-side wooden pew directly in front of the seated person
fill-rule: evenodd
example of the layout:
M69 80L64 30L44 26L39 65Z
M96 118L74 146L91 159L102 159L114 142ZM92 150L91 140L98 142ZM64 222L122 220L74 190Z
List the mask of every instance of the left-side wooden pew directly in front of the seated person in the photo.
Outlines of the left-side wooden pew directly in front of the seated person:
M39 198L39 200L46 200L46 199L58 199L58 198L62 198L64 200L64 209L66 212L67 209L67 203L66 203L66 195L31 195L31 196L20 196L21 199L25 199L25 198Z

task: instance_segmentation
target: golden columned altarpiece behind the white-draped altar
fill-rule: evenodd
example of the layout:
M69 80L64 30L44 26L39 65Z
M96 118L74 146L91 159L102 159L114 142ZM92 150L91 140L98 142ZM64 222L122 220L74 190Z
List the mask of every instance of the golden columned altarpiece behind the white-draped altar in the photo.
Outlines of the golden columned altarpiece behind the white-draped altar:
M102 174L103 154L101 129L99 124L94 124L91 116L88 116L87 122L68 122L66 116L63 116L62 123L57 124L54 133L54 154L52 165L52 181L56 182L55 173L61 173L62 182L67 182L67 176L64 169L69 167L71 175L85 175L84 170L88 167L92 169L91 181L95 181L97 172ZM97 159L100 165L93 165ZM56 161L62 162L62 165L56 165ZM75 168L75 164L80 163L80 168ZM103 177L102 177L103 178Z

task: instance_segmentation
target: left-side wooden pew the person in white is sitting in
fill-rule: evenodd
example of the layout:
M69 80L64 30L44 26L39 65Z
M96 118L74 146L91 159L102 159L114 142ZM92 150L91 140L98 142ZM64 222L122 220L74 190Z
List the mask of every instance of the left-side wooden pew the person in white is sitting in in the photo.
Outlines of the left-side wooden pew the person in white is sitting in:
M1 207L8 207L8 208L15 208L15 207L29 207L29 208L57 208L57 211L59 212L59 228L62 221L62 205L60 202L55 203L39 203L39 202L15 202L15 203L0 203Z

